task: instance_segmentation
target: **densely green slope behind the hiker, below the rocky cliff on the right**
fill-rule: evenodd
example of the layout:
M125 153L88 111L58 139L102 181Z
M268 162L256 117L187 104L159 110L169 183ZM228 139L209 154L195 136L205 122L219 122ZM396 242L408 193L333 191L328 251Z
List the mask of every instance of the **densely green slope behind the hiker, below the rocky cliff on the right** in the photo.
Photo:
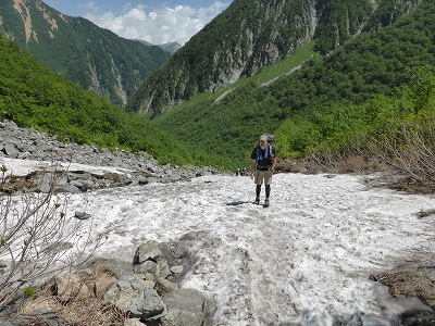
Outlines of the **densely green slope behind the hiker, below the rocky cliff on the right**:
M335 142L345 141L347 131L356 128L335 113L337 123L346 126L343 139L338 139L335 130L326 127L331 110L339 112L349 106L362 114L364 105L372 105L375 98L386 99L386 108L380 104L373 110L388 110L388 102L400 97L400 88L411 83L415 70L433 70L433 30L435 5L433 1L422 2L395 24L361 34L324 60L314 57L300 71L268 87L261 86L257 76L246 78L215 93L198 96L151 122L226 158L222 161L231 161L232 166L247 164L248 153L263 131L281 136L276 137L279 159L299 158L331 137ZM391 118L402 118L393 112ZM362 122L366 124L363 129L377 126L371 126L373 120Z

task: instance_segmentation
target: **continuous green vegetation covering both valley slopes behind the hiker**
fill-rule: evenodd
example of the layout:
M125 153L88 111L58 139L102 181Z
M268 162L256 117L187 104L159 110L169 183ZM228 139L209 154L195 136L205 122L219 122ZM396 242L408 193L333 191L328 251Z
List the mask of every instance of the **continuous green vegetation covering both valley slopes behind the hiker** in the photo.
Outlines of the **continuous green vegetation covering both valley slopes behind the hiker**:
M307 45L151 124L66 83L2 40L0 109L22 126L77 142L145 150L162 163L247 166L263 131L276 134L278 159L366 150L365 140L386 127L395 130L403 122L421 121L413 116L431 116L433 84L415 82L415 76L433 78L433 30L435 7L425 1L391 26L361 34L326 58L313 52L314 43Z

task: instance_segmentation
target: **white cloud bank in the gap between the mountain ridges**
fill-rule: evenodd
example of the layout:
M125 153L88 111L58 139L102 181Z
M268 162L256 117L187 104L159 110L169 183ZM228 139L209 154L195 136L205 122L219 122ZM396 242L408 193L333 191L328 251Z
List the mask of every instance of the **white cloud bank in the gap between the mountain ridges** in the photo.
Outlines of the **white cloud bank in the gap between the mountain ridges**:
M123 15L115 16L112 12L102 15L88 13L85 18L121 37L154 45L177 41L183 46L228 5L229 2L215 1L208 8L158 7L147 12L144 5L132 8L127 3Z

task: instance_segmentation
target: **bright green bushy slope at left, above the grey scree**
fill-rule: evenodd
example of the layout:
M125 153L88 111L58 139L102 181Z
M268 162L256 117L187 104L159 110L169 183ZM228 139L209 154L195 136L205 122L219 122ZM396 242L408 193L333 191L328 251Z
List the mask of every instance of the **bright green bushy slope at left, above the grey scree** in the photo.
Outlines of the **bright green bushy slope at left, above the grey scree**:
M176 136L128 114L39 64L16 43L0 38L0 116L59 139L99 147L147 151L160 163L198 165L208 155Z

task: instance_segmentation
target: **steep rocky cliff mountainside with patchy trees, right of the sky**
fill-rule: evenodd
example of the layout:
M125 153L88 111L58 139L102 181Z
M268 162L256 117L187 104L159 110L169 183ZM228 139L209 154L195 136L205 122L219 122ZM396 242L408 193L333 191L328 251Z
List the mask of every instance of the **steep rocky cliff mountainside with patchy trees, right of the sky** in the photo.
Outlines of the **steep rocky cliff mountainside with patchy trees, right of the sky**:
M235 0L129 98L153 116L288 58L315 40L327 54L362 32L397 21L421 0Z

